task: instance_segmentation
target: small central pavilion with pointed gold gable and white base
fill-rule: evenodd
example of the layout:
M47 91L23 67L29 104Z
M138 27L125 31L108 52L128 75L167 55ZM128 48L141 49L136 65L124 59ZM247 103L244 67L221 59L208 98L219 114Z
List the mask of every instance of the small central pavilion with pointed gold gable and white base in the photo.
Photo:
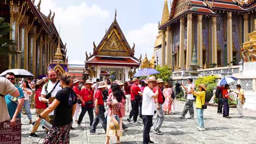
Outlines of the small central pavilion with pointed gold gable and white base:
M103 78L104 71L115 71L115 79L127 81L135 74L141 64L135 55L135 44L132 48L115 19L110 25L98 46L94 44L94 52L88 56L86 52L85 68L92 81ZM102 77L101 77L102 76Z

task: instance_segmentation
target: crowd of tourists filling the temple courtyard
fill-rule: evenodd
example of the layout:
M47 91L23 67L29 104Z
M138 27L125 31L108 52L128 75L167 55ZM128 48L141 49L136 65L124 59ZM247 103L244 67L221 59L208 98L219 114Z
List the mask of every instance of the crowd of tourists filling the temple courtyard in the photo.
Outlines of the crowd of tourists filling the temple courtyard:
M189 111L191 119L194 118L193 101L196 97L196 112L198 130L205 130L203 123L203 110L206 109L205 95L206 86L200 84L199 91L195 91L193 80L187 80L187 86L183 83L176 83L173 89L171 83L162 79L150 76L146 80L133 78L131 81L120 80L91 82L86 80L83 86L78 79L73 79L71 75L65 73L57 79L54 69L48 71L48 77L32 82L31 79L20 80L20 87L15 83L14 73L7 73L5 78L0 78L0 143L21 143L21 111L25 108L25 113L32 129L29 137L38 137L36 134L40 126L40 121L49 122L52 127L46 130L44 143L69 143L69 131L74 129L73 123L77 127L83 127L83 118L88 112L90 121L90 133L96 133L96 127L100 122L106 132L106 143L110 137L117 137L121 143L120 136L128 127L123 123L123 118L133 124L141 124L138 119L142 119L144 124L143 143L154 143L150 140L150 129L153 127L154 133L164 134L161 129L165 115L175 113L175 97L179 86L182 86L187 93L187 101L180 118L185 118ZM36 108L37 119L32 121L30 111L30 97L34 89L34 107ZM175 91L174 91L175 90ZM243 90L237 85L239 116L243 116L242 105L245 102ZM218 113L223 117L229 117L228 99L231 91L229 85L218 87L216 95L219 99ZM107 111L107 112L106 112ZM128 112L129 115L125 115ZM80 113L80 114L79 114ZM155 116L155 118L153 118ZM154 120L153 120L154 119ZM154 122L154 123L153 123ZM3 133L4 132L4 133Z

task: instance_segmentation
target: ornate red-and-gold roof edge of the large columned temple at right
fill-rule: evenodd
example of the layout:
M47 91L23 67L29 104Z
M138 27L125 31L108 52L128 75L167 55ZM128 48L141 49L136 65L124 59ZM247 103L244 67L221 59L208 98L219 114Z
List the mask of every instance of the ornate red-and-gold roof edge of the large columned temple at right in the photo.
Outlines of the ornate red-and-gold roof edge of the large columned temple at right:
M247 13L256 8L254 0L173 0L168 22L159 27L162 29L187 13L218 16L218 10Z

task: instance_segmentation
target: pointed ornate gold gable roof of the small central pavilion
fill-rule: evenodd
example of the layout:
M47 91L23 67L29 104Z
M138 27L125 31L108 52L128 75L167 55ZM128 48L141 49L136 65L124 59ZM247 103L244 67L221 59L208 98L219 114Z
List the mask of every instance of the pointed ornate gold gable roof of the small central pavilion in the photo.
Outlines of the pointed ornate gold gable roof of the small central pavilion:
M132 48L128 44L124 33L117 22L117 12L115 19L110 25L98 46L94 43L94 53L88 56L86 52L85 67L88 65L125 65L139 67L139 60L134 57L135 44Z

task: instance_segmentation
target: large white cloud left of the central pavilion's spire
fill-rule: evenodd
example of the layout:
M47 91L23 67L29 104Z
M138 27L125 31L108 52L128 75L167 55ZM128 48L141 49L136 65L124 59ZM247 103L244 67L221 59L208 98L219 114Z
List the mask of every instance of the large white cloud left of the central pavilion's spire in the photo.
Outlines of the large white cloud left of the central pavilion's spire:
M38 1L35 2L35 5ZM86 2L67 5L67 7L60 1L58 2L43 0L40 11L46 16L49 14L49 9L52 11L52 15L55 12L54 23L58 30L60 26L61 39L63 43L67 43L69 61L84 63L86 49L90 51L92 48L93 40L91 40L90 34L95 31L92 26L106 22L109 19L109 11L101 9L96 4L88 5Z

